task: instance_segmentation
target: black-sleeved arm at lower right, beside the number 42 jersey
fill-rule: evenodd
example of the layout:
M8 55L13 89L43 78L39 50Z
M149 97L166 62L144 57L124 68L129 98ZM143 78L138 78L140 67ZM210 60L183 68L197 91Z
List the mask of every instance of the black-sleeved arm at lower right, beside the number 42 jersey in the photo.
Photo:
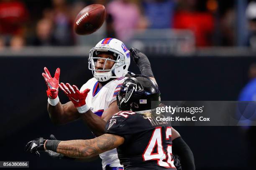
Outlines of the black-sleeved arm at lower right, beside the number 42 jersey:
M192 150L181 137L172 141L172 151L180 157L182 170L195 170L195 160Z

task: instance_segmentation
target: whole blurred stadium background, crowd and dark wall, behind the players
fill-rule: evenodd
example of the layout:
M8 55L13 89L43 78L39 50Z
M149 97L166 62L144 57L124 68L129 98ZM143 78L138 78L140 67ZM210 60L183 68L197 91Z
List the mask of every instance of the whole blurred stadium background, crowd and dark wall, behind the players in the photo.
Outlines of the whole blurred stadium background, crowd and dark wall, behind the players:
M104 25L92 35L75 35L74 18L92 3L105 5ZM31 169L101 169L100 160L36 158L23 146L50 134L92 138L81 121L51 123L41 72L60 67L61 82L81 87L92 77L89 50L104 37L148 55L162 100L236 101L256 77L253 0L0 0L1 161L30 161ZM139 73L133 62L129 70ZM63 92L59 96L68 101ZM175 128L192 149L197 170L256 169L255 128Z

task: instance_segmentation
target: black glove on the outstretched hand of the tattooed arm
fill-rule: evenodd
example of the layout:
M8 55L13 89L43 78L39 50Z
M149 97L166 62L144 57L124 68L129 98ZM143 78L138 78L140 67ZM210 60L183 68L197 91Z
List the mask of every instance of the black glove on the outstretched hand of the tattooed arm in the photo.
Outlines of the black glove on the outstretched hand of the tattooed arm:
M25 146L25 151L29 151L30 153L36 154L36 156L40 156L40 153L38 151L44 151L45 141L46 140L43 138L31 140Z

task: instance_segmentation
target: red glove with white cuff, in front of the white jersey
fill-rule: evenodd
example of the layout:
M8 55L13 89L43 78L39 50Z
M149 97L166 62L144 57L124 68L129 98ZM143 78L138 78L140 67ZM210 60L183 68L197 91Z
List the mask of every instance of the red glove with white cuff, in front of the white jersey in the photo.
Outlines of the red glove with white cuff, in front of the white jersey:
M74 103L74 106L77 108L79 113L85 113L90 109L85 103L85 99L88 92L90 92L90 89L85 89L83 92L80 92L77 86L71 86L69 83L66 83L65 85L63 82L61 82L59 87L64 91L67 97L69 97L69 100Z

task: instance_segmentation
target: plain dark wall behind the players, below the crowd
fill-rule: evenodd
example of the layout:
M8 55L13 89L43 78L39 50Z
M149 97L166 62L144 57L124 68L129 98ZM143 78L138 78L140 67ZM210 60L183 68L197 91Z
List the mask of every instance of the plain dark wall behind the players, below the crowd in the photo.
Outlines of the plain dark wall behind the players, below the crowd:
M248 82L253 57L148 56L161 90L161 100L237 100ZM29 161L30 169L101 169L101 160L90 163L40 158L23 151L25 144L54 134L59 140L93 138L78 120L53 125L47 112L46 85L41 73L48 67L54 75L61 68L60 82L81 87L92 77L88 57L0 57L1 161ZM139 73L131 61L129 69ZM68 98L59 92L62 103ZM192 149L197 170L246 169L247 144L240 127L175 127Z

